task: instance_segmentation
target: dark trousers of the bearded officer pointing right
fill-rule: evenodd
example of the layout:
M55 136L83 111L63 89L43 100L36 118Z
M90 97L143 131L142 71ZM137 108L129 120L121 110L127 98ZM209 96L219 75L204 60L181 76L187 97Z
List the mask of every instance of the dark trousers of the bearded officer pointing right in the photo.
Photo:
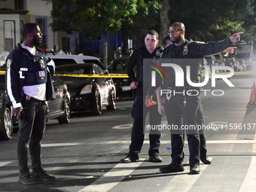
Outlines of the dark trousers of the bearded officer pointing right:
M200 163L200 135L197 131L197 111L200 105L199 96L172 96L165 102L165 112L171 130L172 163L181 163L184 159L184 132L187 133L187 142L190 151L190 166ZM183 126L183 127L182 127ZM190 127L190 130L185 128ZM183 129L182 129L183 128Z

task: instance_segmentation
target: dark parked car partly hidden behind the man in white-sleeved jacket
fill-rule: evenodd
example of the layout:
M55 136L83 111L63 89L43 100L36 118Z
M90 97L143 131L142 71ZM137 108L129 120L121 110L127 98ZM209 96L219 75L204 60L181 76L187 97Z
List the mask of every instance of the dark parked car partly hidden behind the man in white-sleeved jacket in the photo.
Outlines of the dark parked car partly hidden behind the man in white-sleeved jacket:
M5 71L5 69L0 69ZM57 119L59 123L70 121L70 95L66 84L58 77L53 77L53 87L56 99L48 102L49 114L47 119ZM14 126L18 126L17 118L12 117L11 105L6 104L5 75L0 75L0 141L11 139Z

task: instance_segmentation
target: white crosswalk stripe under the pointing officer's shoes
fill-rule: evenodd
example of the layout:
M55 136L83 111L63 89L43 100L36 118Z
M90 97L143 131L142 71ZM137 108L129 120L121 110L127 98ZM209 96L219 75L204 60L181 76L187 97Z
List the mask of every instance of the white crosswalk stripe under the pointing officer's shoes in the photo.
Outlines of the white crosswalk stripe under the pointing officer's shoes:
M209 158L212 160L212 158ZM169 191L175 191L175 192L187 192L193 187L195 182L197 181L198 178L203 174L203 171L206 169L207 165L200 164L200 174L194 174L190 175L188 172L186 172L186 168L184 172L181 172L179 175L175 175L169 183L165 185L165 187L160 190L160 192L169 192ZM184 174L187 173L187 174ZM182 188L181 188L182 186Z

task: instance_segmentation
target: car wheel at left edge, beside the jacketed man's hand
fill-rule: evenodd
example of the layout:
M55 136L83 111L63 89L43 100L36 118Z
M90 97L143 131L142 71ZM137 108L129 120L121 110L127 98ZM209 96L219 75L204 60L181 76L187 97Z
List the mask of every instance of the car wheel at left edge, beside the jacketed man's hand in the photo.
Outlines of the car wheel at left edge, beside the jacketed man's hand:
M8 141L11 139L14 127L11 119L11 111L9 108L5 108L5 112L2 115L2 124L0 130L2 130L0 132L1 141Z

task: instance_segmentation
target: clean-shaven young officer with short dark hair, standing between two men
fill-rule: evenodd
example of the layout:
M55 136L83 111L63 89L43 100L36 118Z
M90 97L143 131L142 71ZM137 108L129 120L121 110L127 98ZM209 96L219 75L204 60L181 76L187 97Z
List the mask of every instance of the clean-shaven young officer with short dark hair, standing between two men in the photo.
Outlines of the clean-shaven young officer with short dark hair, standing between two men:
M157 105L151 105L147 108L145 106L145 96L143 96L143 90L147 90L149 84L151 84L150 81L143 82L143 75L145 75L143 71L149 69L149 64L143 62L143 59L160 58L160 53L163 48L157 47L158 42L158 33L154 30L149 31L145 36L145 47L139 47L139 49L134 50L126 64L126 71L131 82L130 87L136 90L136 96L132 111L134 122L130 151L126 157L120 160L122 163L139 161L139 152L142 150L144 142L144 125L148 111L150 125L159 125L161 123L161 115L157 112ZM145 63L145 65L143 63ZM137 70L136 75L134 69ZM151 73L147 72L146 74L150 75ZM148 78L144 77L144 79ZM162 158L159 156L160 131L150 130L149 140L150 148L148 150L148 160L154 163L162 162Z

